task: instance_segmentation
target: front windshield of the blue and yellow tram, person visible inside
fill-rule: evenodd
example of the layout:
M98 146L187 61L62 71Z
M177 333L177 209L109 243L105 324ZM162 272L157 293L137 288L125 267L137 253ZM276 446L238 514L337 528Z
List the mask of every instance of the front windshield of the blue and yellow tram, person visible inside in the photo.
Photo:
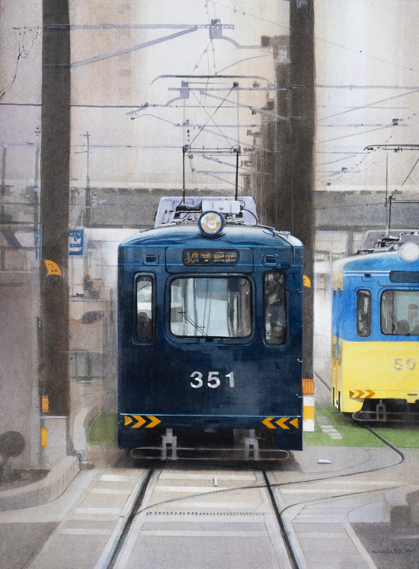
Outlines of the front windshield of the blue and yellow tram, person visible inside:
M419 290L386 290L381 295L383 334L419 335Z

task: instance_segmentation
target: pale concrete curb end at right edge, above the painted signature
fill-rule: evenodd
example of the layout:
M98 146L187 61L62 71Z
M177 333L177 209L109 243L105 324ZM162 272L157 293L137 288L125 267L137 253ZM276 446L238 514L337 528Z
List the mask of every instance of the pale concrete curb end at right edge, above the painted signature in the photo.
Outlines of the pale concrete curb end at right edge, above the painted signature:
M410 484L384 494L384 518L392 525L419 526L419 485Z

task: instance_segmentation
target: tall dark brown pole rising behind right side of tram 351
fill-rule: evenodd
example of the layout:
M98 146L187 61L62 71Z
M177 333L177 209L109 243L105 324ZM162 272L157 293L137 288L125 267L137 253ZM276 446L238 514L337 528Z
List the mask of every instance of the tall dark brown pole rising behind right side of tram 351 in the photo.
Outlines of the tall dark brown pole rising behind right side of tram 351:
M279 64L276 83L277 113L290 117L278 121L276 212L271 216L278 229L298 237L304 245L303 378L313 378L314 299L314 150L315 150L315 51L312 2L290 0L290 64ZM308 282L307 282L308 284Z

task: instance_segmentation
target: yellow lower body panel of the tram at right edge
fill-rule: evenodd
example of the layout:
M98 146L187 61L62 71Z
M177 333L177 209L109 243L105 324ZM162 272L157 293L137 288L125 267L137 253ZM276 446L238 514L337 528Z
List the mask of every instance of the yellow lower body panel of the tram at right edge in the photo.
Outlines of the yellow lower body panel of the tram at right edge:
M333 405L356 413L364 399L419 400L419 343L332 336Z

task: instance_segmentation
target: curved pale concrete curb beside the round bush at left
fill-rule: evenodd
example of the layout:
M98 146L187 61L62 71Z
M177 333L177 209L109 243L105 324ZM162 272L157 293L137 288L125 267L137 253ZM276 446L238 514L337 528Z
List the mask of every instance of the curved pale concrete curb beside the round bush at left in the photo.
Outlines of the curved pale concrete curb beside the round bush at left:
M32 508L56 500L79 472L77 456L66 456L44 479L0 492L0 512Z

